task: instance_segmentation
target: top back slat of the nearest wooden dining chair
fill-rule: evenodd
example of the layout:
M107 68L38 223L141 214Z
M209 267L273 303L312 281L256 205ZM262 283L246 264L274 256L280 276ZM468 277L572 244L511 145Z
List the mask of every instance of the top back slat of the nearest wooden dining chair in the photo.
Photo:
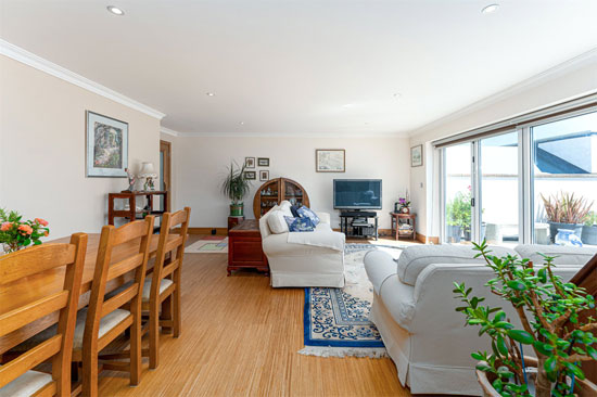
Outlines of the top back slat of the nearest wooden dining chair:
M11 254L11 260L0 260L0 285L43 270L72 264L75 246L71 244L46 244Z

